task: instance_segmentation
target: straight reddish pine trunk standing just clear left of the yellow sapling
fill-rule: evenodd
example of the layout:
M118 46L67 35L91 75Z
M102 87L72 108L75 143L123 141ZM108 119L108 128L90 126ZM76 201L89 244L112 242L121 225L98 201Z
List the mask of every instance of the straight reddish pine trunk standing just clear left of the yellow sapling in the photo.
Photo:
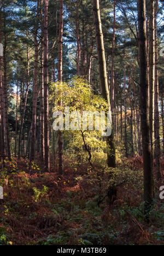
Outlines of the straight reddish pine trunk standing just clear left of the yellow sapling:
M50 171L49 153L49 72L48 72L48 4L49 0L44 0L44 163L45 171Z

